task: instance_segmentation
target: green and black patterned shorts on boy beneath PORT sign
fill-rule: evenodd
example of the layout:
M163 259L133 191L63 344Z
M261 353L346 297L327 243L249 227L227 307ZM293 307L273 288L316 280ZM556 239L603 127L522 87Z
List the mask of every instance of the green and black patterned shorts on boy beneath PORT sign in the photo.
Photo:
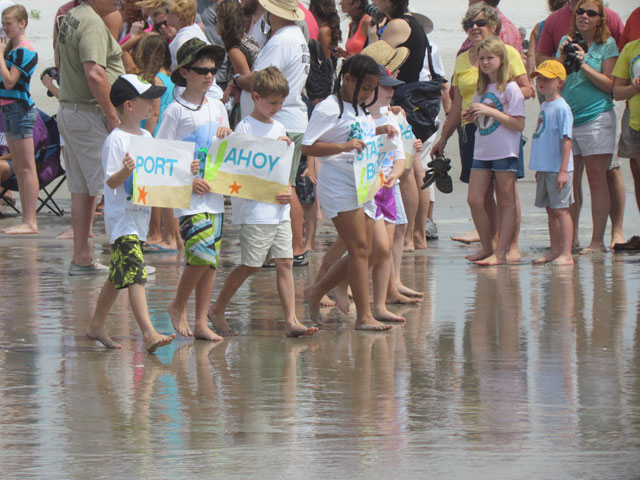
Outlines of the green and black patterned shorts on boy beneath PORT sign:
M115 285L116 290L127 288L134 283L147 283L142 242L137 235L123 235L111 245L109 281Z

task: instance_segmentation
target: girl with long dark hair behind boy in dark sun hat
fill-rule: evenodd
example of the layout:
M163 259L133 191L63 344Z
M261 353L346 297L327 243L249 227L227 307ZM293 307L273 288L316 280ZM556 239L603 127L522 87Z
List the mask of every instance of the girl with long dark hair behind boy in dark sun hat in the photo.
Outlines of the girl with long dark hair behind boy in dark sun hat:
M245 31L246 18L242 6L236 0L224 0L216 9L218 34L229 56L227 69L227 88L224 91L223 102L230 97L236 99L234 108L229 115L231 128L240 121L240 89L233 79L238 75L250 75L253 63L260 52L260 45ZM247 102L251 102L249 98ZM251 110L247 103L245 111Z

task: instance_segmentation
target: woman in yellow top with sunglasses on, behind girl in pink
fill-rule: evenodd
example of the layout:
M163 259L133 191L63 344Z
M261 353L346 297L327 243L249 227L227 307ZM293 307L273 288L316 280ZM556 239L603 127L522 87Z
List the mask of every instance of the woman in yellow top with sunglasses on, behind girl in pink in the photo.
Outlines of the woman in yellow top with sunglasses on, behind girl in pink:
M473 44L470 50L460 54L456 59L455 68L453 71L452 92L453 103L451 110L447 115L447 119L442 127L442 133L440 139L433 146L431 155L436 156L444 151L447 144L447 140L453 132L458 130L458 143L460 147L460 159L462 161L462 169L460 172L460 180L464 183L469 183L469 175L471 173L471 163L473 161L473 147L476 125L474 123L468 123L462 118L462 113L469 108L473 102L473 94L476 90L478 83L478 55L477 48L482 41L492 35L498 35L502 23L496 10L484 2L474 3L469 7L467 13L465 13L462 19L462 27L469 36L469 40ZM534 96L534 91L529 84L527 77L527 71L524 63L522 62L522 56L518 51L507 45L507 53L509 55L509 65L511 68L511 75L514 81L520 86L524 98L531 98ZM495 202L493 200L493 188L487 191L486 207L489 212L495 212ZM518 227L520 225L520 206L518 205ZM495 218L495 214L491 215ZM519 228L518 228L519 230ZM516 232L516 238L517 238ZM477 232L472 231L461 237L451 237L453 240L461 241L463 243L471 243L479 241ZM509 258L516 260L518 252L516 246L510 249Z

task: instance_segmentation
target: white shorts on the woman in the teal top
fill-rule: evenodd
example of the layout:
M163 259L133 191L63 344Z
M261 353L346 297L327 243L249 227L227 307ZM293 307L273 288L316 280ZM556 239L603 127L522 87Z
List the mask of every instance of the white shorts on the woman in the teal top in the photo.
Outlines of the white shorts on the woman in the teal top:
M603 112L595 120L573 127L571 150L574 155L613 155L616 150L616 112Z

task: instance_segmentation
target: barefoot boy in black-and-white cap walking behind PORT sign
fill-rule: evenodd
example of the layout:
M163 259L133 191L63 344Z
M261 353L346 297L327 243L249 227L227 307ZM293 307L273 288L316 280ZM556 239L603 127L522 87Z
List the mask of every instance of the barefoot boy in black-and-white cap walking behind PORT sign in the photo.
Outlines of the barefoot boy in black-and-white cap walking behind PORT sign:
M148 353L170 344L176 337L159 334L149 318L144 290L147 270L141 244L147 237L151 208L131 202L135 161L127 152L132 137L151 136L140 128L140 122L150 118L153 99L161 97L165 90L135 75L122 75L111 87L110 100L121 118L120 126L109 134L102 147L104 223L111 242L111 265L86 331L89 338L107 348L122 348L107 334L105 321L118 292L124 288L129 292L131 309Z

